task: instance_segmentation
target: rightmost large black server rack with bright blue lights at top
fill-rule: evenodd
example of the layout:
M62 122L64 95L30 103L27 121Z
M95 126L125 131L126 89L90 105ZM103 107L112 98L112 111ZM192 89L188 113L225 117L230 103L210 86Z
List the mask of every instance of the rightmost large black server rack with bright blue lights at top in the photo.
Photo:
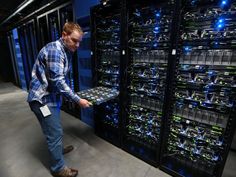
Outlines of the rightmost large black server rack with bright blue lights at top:
M180 12L161 169L173 176L219 177L235 127L236 2L183 1Z

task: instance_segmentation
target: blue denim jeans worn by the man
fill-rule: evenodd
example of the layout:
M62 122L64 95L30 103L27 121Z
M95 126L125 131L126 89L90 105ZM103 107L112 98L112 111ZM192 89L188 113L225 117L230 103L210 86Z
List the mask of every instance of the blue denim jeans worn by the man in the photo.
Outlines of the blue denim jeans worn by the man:
M43 117L40 107L43 106L38 101L32 101L29 103L31 110L34 112L38 121L41 125L43 134L46 138L48 151L51 160L51 171L58 172L64 168L64 157L63 157L63 129L60 118L59 107L48 107L51 111L51 115L46 118Z

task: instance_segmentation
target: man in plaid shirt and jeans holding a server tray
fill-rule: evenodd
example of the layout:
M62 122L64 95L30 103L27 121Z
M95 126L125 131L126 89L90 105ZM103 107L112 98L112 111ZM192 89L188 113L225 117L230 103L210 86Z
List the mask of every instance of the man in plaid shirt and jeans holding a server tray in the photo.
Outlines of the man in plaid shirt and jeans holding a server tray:
M51 173L57 177L75 177L78 174L78 170L68 168L64 163L63 154L73 150L73 146L64 149L63 153L61 95L82 108L91 105L76 95L66 83L72 52L77 50L82 37L83 31L78 24L65 23L62 37L41 49L32 70L28 102L47 141Z

